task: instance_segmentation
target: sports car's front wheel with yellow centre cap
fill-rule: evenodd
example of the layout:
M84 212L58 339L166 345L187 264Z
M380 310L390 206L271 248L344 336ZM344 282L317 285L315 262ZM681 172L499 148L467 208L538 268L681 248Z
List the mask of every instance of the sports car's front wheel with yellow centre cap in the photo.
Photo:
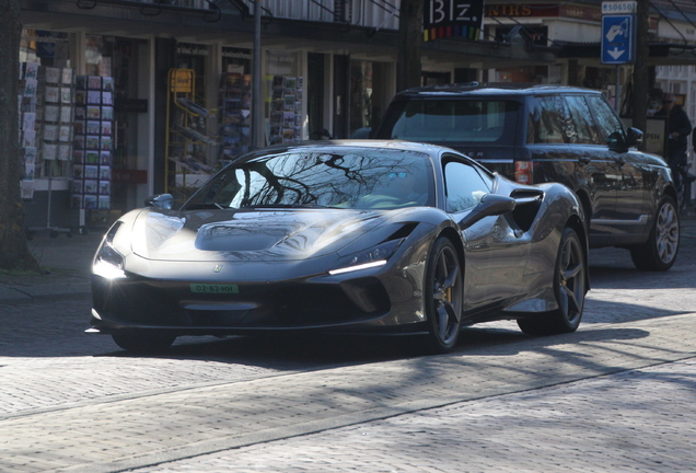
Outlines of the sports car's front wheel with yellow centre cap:
M428 346L434 353L454 349L462 328L464 274L456 249L439 238L428 257L424 295L428 318Z

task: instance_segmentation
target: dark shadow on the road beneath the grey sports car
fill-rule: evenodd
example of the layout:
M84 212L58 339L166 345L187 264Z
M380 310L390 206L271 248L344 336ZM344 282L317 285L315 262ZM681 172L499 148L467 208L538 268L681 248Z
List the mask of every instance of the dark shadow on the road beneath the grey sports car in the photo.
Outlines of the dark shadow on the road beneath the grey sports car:
M450 356L515 355L520 351L549 348L554 345L599 341L643 338L649 332L637 328L592 328L576 333L533 337L514 328L477 325L462 330L460 342ZM229 337L201 341L182 337L153 358L206 360L269 368L280 371L330 369L408 358L430 357L419 336L303 336L303 337ZM143 357L125 350L103 357Z

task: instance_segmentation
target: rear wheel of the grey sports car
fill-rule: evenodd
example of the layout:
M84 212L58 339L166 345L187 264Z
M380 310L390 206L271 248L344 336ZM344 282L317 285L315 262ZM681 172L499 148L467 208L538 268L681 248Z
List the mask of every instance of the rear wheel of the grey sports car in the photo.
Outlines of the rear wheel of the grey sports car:
M578 233L567 227L560 239L554 270L554 293L558 309L547 314L518 320L522 332L530 335L553 335L578 330L587 293L588 269L582 247Z

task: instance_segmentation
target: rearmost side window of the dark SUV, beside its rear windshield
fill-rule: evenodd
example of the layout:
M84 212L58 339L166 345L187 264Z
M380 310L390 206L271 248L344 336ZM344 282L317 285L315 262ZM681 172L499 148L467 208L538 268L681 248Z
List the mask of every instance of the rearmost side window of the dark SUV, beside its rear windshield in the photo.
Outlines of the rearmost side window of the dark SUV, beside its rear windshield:
M562 96L547 95L530 100L527 143L577 142L577 135Z

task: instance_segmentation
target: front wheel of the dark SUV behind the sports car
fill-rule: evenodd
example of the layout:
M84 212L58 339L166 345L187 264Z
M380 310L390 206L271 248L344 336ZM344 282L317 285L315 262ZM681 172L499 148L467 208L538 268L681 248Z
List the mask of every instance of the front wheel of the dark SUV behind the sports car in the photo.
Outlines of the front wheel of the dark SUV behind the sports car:
M674 265L680 249L680 214L676 204L662 197L648 241L630 249L630 258L638 269L663 272Z

